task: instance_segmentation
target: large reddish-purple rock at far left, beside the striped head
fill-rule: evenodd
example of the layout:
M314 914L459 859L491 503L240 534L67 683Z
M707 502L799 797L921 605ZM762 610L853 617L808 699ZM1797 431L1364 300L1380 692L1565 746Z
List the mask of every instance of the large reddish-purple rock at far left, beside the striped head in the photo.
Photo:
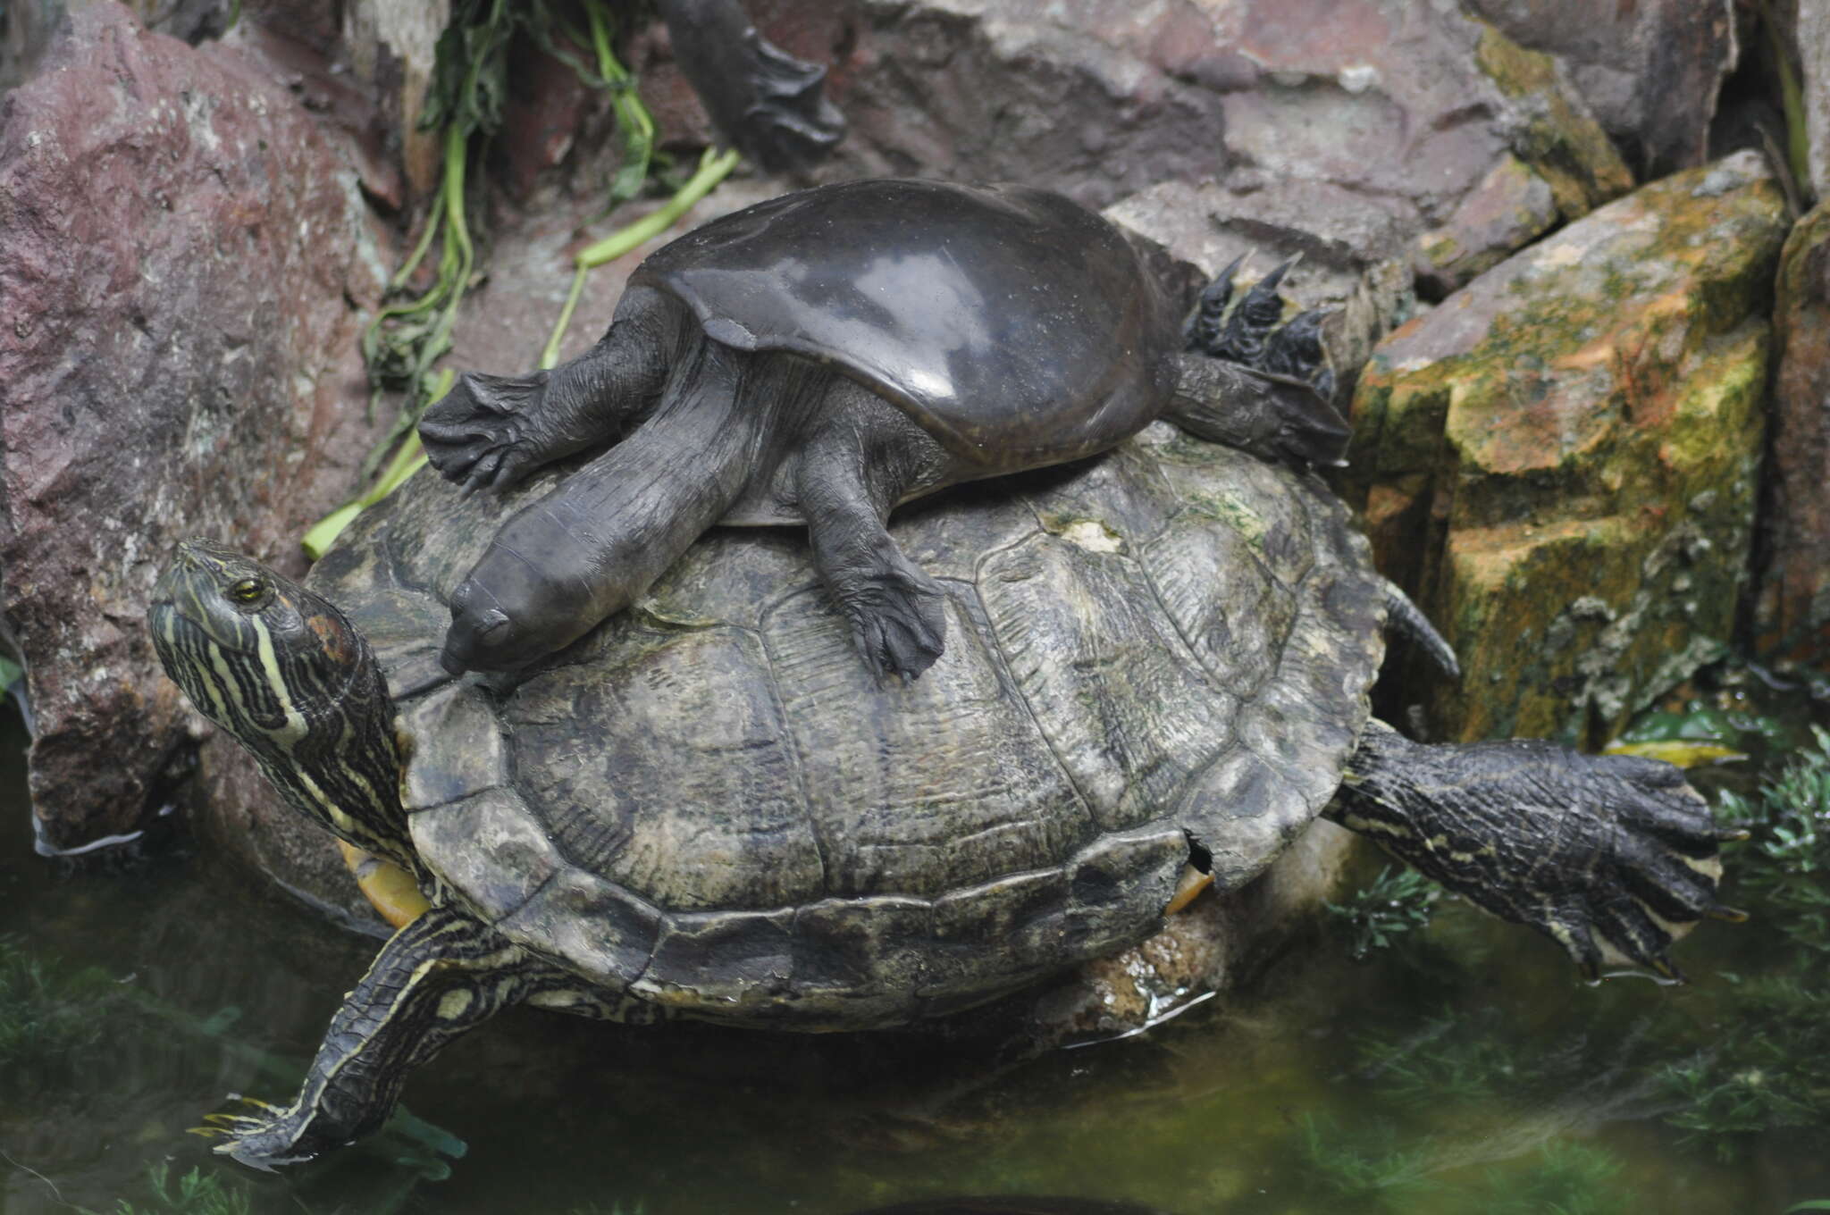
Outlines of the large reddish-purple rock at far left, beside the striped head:
M192 534L298 571L373 434L382 254L348 157L227 46L88 4L0 110L0 606L40 840L132 831L196 717L146 597Z

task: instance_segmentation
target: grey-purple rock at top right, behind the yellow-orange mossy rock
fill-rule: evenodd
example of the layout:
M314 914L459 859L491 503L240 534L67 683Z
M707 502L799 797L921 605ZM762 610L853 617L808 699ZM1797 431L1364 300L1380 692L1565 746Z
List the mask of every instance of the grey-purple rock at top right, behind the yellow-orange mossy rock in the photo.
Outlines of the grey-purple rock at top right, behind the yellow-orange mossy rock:
M1717 97L1738 55L1735 0L1468 0L1468 7L1521 46L1556 55L1642 176L1704 161Z

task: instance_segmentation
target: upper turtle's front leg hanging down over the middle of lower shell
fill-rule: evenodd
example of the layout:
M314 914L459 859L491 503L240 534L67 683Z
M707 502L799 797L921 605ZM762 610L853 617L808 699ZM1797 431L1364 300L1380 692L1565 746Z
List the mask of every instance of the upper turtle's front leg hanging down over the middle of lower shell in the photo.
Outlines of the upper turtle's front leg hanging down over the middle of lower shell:
M920 426L853 381L825 408L794 470L814 567L878 679L915 679L946 648L946 591L891 540L891 507L937 489L952 465Z

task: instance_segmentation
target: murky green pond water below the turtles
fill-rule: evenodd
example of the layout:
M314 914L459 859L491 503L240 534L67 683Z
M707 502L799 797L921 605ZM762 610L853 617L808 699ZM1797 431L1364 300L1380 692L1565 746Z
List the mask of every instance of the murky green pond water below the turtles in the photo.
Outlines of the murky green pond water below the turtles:
M1707 1091L1707 1120L1764 1127L1759 1098L1786 1052L1830 1043L1830 1006L1815 1003L1830 981L1810 986L1823 968L1801 964L1771 917L1680 946L1687 988L1585 988L1548 941L1460 904L1365 964L1323 939L1250 999L1027 1061L877 1036L509 1016L408 1085L426 1124L256 1175L218 1164L185 1127L227 1092L287 1098L373 946L181 842L115 873L35 858L22 736L11 715L4 730L4 1215L112 1213L123 1199L194 1215L838 1215L959 1193L1182 1215L1777 1215L1830 1199L1830 1127L1674 1125ZM1788 975L1804 1012L1749 1001ZM1689 1094L1673 1080L1685 1067ZM454 1160L458 1142L468 1149ZM170 1202L152 1191L159 1166ZM187 1200L192 1167L218 1184Z

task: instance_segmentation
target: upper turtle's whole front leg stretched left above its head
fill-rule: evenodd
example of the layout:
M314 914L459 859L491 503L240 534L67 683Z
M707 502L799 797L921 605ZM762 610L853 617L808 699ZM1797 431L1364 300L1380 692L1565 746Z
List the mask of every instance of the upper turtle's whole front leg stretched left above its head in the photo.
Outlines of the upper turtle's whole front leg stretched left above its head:
M467 490L505 490L544 465L613 443L661 397L670 339L684 324L677 313L661 293L637 287L597 346L551 371L465 371L419 421L432 467Z

